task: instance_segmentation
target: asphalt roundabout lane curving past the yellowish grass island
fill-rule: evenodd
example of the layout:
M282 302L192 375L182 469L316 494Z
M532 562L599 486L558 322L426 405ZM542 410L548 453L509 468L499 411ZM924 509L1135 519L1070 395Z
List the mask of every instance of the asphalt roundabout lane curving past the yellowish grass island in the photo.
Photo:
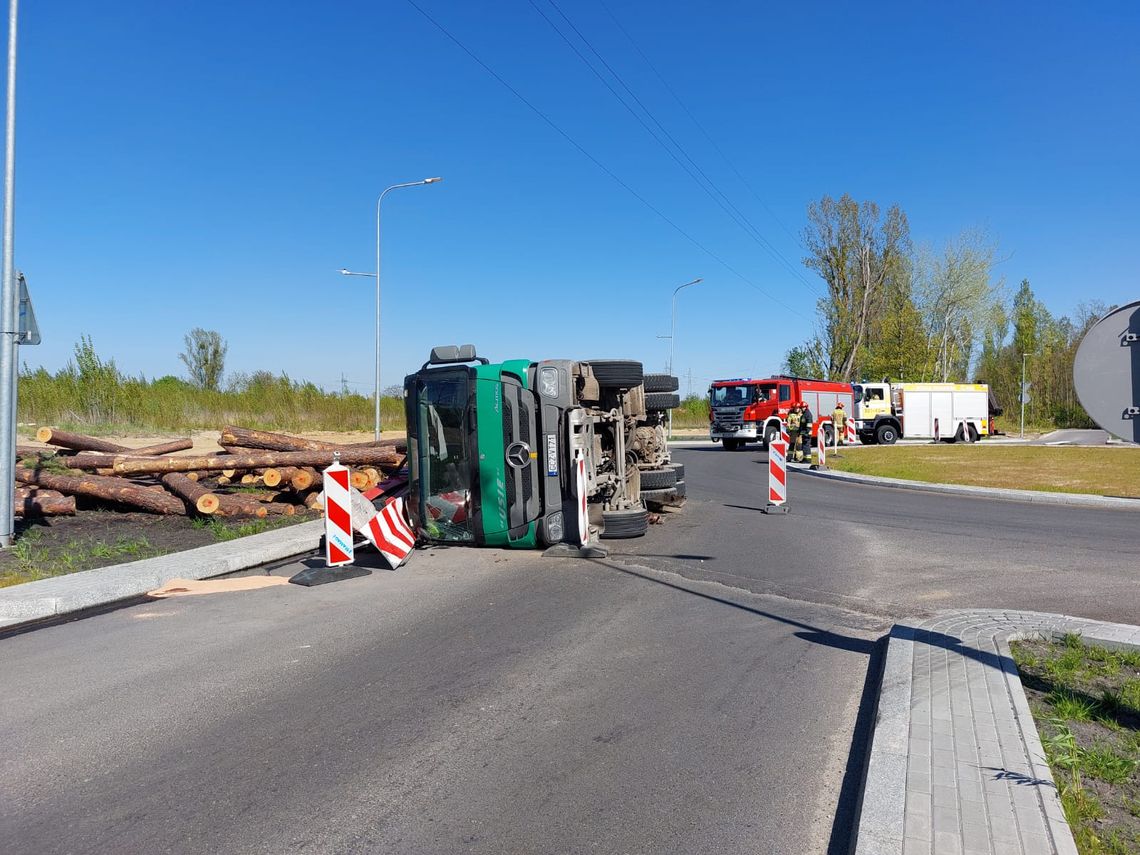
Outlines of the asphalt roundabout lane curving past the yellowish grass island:
M684 512L632 551L690 578L902 618L1021 608L1140 621L1140 513L829 481L789 473L787 516L760 513L767 457L675 453Z

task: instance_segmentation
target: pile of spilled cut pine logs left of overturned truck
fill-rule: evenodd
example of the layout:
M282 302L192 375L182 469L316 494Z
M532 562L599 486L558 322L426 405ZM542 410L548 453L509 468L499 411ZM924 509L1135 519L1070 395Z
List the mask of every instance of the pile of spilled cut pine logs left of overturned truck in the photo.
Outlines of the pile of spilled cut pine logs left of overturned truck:
M74 514L76 498L157 514L292 516L320 506L320 472L334 453L364 490L396 475L407 451L402 439L336 445L234 426L207 455L176 454L189 439L127 448L55 427L35 438L52 448L16 448L17 516Z

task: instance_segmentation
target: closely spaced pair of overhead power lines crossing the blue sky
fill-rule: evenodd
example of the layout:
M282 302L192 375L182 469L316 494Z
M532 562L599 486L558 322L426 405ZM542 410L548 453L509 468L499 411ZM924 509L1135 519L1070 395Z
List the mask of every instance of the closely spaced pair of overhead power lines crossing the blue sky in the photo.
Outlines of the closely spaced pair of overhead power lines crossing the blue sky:
M823 292L820 290L820 287L815 283L808 280L804 276L799 267L789 261L788 258L783 253L781 253L780 250L777 250L775 245L773 245L772 242L767 239L767 237L764 236L764 234L759 230L759 228L757 228L756 223L754 223L748 218L748 215L744 214L732 202L731 198L728 198L727 194L725 194L724 190L720 189L720 187L717 185L715 180L709 178L708 173L703 169L701 169L700 164L698 164L697 161L693 160L693 157L689 154L685 147L677 141L677 139L668 131L668 129L663 124L661 124L660 121L658 121L657 116L653 115L653 112L645 106L644 101L642 101L642 99L637 97L637 93L626 83L626 81L613 68L613 66L611 66L605 60L605 57L602 56L602 54L594 47L594 44L589 41L589 39L586 38L586 35L581 32L581 30L579 30L575 25L575 23L567 16L564 11L562 11L562 8L557 5L557 2L555 2L555 0L547 0L547 2L549 2L549 5L554 8L554 10L557 11L559 16L565 22L565 24L570 27L570 30L573 31L573 33L578 36L579 40L581 40L581 42L586 46L586 48L588 48L589 51L597 58L597 60L602 64L605 71L609 72L610 75L617 81L617 83L628 93L629 98L633 99L634 104L636 104L637 107L641 108L641 112L644 113L645 116L650 120L650 122L652 122L657 127L658 129L657 131L654 131L652 128L649 127L649 124L646 124L646 122L644 121L644 119L642 119L642 116L637 113L637 111L634 109L634 107L610 84L610 82L593 65L593 63L591 63L589 59L587 59L580 50L578 50L577 46L575 46L575 43L570 40L570 38L564 32L562 32L562 30L553 21L551 21L551 18L546 15L546 13L543 11L543 9L538 6L536 0L528 0L528 1L530 2L535 11L537 11L543 17L543 19L545 19L546 23L549 24L551 28L554 30L554 32L557 33L562 38L562 40L570 47L570 49L575 52L575 55L577 55L577 57L583 62L583 64L586 65L586 67L594 73L594 76L596 76L602 82L602 84L610 90L610 93L614 98L617 98L617 100L621 104L621 106L624 106L629 112L629 114L637 120L638 124L641 124L642 128L644 128L645 131L654 139L654 141L657 141L657 144L660 145L661 148L663 148L665 152L674 160L674 162L676 162L676 164L681 166L681 169L684 170L685 173L693 179L693 181L697 182L697 185L705 192L705 194L709 198L711 198L712 202L718 207L720 207L720 210L724 211L728 215L728 218L732 219L733 222L735 222L744 231L746 235L752 238L752 241L755 241L775 261L783 264L783 267L788 270L788 272L790 272L793 277L799 279L804 285L812 288L822 296ZM684 107L684 105L682 105L682 107ZM662 139L662 137L665 139ZM668 140L668 144L666 142L666 140ZM674 149L676 149L676 153L674 153ZM681 158L677 156L677 154L679 154L681 157L684 157L685 161L687 161L689 165L682 162ZM723 153L722 156L724 156Z

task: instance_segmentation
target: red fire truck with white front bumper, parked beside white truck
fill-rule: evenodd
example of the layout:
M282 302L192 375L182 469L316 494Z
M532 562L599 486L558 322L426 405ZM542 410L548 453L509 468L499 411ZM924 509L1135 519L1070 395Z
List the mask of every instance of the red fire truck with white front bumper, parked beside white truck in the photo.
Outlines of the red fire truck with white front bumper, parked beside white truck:
M848 414L855 410L850 383L787 374L765 380L717 380L709 386L709 438L724 442L726 451L735 451L748 442L759 442L767 448L780 434L780 423L797 401L805 401L812 410L813 438L820 420L830 420L839 401ZM829 443L830 430L830 424L824 426Z

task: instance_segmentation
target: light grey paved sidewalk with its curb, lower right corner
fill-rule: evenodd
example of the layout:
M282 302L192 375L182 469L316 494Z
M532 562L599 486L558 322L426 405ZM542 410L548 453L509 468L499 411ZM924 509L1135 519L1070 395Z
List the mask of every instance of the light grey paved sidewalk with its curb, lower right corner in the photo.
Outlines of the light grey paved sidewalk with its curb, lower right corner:
M887 646L856 855L1076 855L1009 642L1140 627L979 609L896 624Z

